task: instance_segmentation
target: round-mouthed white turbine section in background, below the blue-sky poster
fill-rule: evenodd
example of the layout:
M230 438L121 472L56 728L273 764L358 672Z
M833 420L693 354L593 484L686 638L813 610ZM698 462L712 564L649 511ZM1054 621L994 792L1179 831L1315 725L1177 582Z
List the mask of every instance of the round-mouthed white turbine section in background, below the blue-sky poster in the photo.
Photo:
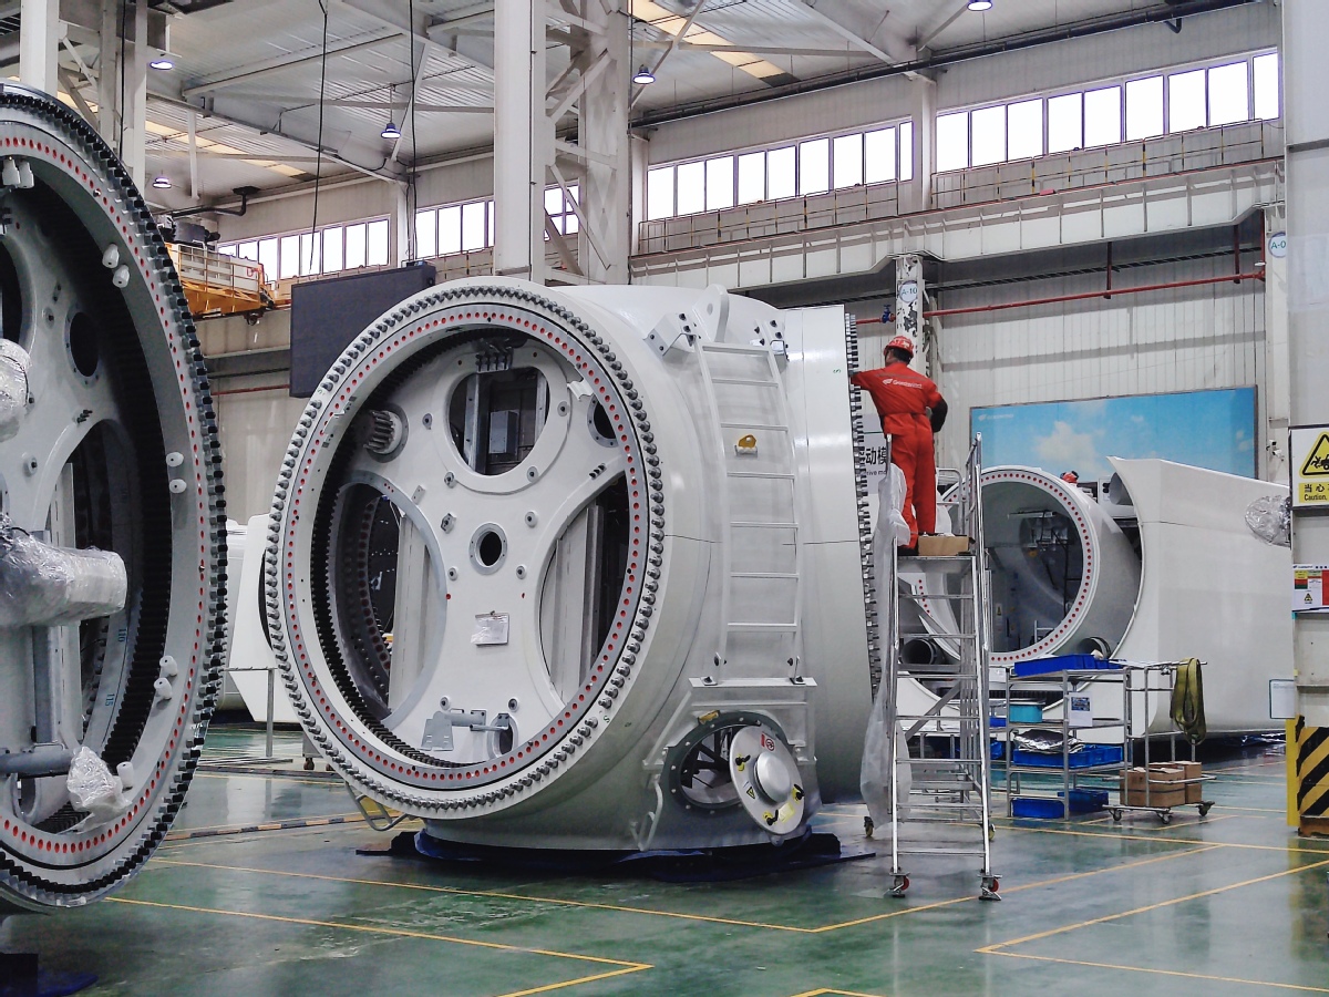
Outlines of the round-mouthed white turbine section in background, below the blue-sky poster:
M1122 528L1079 488L1034 468L990 468L982 488L993 665L1111 654L1140 588Z

